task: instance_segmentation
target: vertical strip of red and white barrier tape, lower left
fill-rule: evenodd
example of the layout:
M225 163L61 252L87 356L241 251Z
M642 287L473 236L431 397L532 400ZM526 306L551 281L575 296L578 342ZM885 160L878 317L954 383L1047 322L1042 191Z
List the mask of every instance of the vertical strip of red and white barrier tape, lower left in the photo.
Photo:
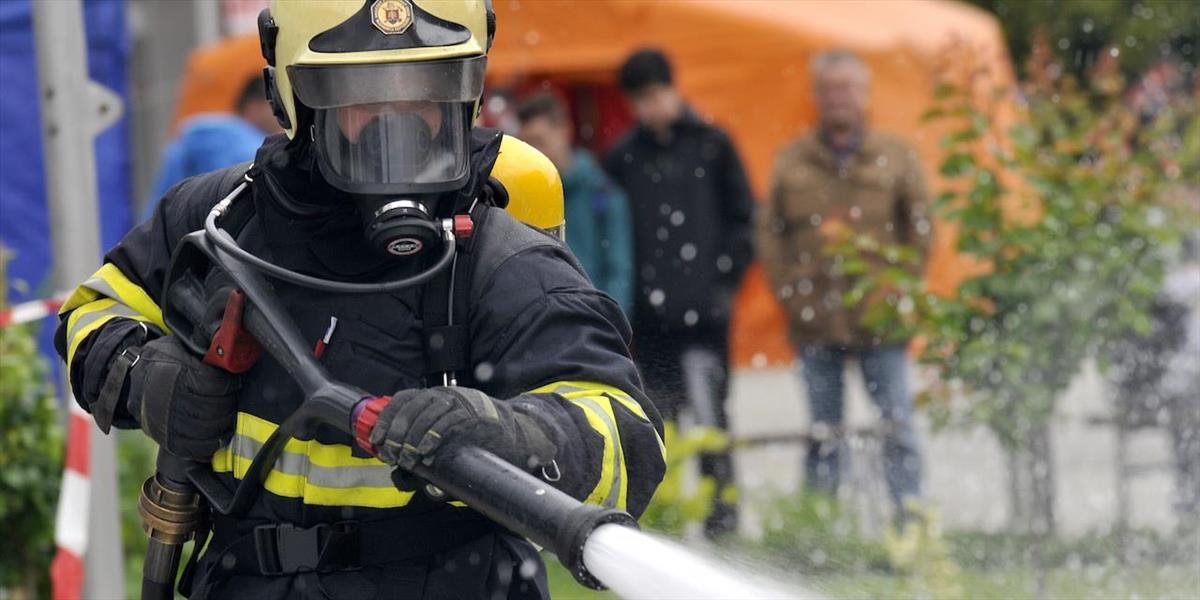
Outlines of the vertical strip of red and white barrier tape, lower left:
M83 596L84 552L88 550L88 515L91 512L91 415L71 402L67 427L67 457L62 469L62 490L59 492L54 516L54 544L58 553L50 563L50 586L55 600L76 600Z

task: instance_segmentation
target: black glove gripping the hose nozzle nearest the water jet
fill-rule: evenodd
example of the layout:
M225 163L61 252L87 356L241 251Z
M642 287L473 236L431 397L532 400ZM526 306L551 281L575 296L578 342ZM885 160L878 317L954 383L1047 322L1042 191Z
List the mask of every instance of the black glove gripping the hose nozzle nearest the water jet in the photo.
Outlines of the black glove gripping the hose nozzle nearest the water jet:
M470 388L403 390L371 430L379 460L412 469L452 444L482 448L523 469L553 462L558 446L532 416ZM409 486L403 486L409 487Z

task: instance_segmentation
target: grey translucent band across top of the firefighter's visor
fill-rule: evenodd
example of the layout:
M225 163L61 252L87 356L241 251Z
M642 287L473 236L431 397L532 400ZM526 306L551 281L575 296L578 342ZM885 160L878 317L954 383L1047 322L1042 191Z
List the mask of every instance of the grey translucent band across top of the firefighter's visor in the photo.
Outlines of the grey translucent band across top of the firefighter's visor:
M379 102L474 102L484 94L487 59L470 56L376 65L293 65L288 77L310 108Z

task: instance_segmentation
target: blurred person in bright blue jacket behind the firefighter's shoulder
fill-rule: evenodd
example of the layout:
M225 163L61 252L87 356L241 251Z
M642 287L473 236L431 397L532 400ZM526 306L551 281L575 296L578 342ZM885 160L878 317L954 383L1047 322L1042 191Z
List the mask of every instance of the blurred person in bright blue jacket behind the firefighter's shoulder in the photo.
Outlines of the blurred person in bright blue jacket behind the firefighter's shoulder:
M158 199L175 184L192 175L252 161L263 138L281 131L262 77L246 83L233 113L204 113L187 119L163 150L158 176L142 209L142 220L154 216Z

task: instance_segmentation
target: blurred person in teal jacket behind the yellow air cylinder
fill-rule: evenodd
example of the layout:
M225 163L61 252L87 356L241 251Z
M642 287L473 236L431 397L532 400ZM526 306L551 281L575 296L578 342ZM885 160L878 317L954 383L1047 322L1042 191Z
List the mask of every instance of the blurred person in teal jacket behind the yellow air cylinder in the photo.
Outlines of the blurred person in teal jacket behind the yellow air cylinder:
M630 314L634 248L629 202L590 152L571 145L571 118L552 92L535 94L517 106L518 138L541 150L563 176L566 245L598 289Z

